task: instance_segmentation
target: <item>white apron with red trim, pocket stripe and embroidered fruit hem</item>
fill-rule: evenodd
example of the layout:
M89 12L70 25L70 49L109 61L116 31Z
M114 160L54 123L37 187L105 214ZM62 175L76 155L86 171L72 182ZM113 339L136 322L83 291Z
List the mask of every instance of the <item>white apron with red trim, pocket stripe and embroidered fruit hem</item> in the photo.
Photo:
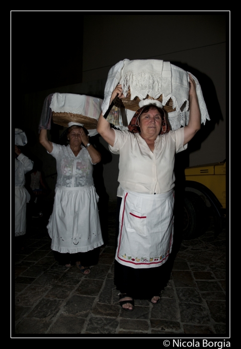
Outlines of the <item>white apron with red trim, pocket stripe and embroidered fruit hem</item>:
M124 190L115 259L131 268L159 267L173 241L173 189L163 194Z

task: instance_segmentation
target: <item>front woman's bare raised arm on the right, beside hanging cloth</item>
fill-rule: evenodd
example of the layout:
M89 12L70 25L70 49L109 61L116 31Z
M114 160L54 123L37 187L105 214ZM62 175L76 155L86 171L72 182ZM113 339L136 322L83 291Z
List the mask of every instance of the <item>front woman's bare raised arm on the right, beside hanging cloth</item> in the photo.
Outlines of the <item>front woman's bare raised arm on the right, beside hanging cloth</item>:
M193 136L201 128L201 112L198 104L197 92L196 92L196 83L189 74L189 122L188 125L184 127L184 143L187 144Z

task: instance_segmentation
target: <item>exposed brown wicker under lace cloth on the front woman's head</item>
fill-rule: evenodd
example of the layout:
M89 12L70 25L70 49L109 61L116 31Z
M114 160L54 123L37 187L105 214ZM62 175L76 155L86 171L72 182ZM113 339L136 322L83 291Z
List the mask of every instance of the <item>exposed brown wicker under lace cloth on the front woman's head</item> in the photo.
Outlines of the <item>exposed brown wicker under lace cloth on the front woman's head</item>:
M151 96L147 95L147 97L145 99L153 99ZM162 95L156 99L157 101L160 101L162 102ZM128 91L128 96L125 97L125 98L122 98L120 99L119 97L116 97L114 99L114 105L116 107L119 107L119 108L126 108L126 109L129 109L129 110L132 110L134 112L136 112L140 107L139 107L139 102L140 102L140 98L139 97L135 97L132 101L131 101L131 91L129 89ZM176 108L172 108L173 106L173 102L172 102L172 99L169 98L169 100L167 101L167 103L163 106L163 109L167 112L167 113L170 113L170 112L174 112L176 110Z

